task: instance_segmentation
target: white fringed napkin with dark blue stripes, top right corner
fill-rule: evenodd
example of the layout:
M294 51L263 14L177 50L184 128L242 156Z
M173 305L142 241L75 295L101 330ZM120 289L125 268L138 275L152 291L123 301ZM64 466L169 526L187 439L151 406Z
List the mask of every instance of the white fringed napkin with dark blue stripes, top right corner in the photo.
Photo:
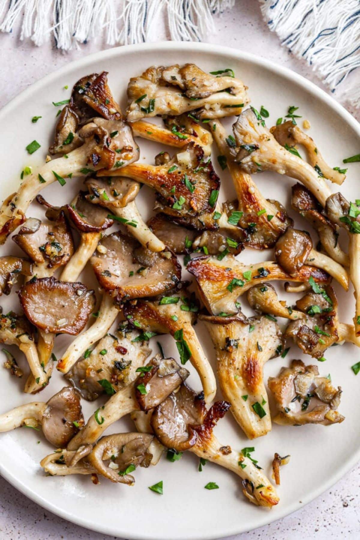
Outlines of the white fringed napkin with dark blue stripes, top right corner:
M360 1L260 0L269 29L307 60L336 97L360 106ZM352 73L351 77L350 73ZM348 79L345 93L343 83Z

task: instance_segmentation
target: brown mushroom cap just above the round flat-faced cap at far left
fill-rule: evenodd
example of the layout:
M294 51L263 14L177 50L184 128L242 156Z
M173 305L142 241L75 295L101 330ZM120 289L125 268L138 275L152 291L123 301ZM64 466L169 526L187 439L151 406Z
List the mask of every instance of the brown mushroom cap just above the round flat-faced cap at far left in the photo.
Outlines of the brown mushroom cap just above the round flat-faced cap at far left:
M47 268L66 265L74 251L70 227L64 212L60 211L55 221L45 222L34 229L26 226L12 237L13 241L36 262L46 264Z

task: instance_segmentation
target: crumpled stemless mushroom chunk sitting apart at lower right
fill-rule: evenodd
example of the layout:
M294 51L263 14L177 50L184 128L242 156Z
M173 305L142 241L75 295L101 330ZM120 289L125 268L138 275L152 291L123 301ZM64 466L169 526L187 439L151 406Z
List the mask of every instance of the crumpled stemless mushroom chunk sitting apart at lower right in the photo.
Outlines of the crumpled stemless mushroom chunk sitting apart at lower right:
M317 366L293 360L289 368L281 368L277 377L269 377L268 386L276 402L276 424L329 426L345 420L336 410L341 387L336 389L327 377L320 377Z

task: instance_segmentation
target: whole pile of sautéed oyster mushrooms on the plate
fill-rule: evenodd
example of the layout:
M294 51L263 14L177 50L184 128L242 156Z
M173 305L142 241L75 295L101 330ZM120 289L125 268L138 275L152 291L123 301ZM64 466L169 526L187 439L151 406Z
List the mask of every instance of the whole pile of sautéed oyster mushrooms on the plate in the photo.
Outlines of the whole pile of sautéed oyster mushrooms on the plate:
M251 448L234 450L213 431L229 409L250 440L271 430L263 365L284 353L286 340L317 360L331 345L360 346L360 210L332 193L327 180L341 185L345 176L325 163L295 116L269 130L266 115L247 108L247 87L232 70L153 66L130 79L127 97L123 116L106 72L81 78L58 117L49 149L54 157L24 176L1 207L0 241L17 230L12 240L24 257L0 258L1 294L10 294L23 276L21 312L2 313L0 341L17 345L28 360L24 392L36 394L51 383L55 365L69 386L46 403L2 414L0 431L40 426L56 448L41 462L46 473L91 475L94 482L102 475L133 484L130 473L157 464L164 449L178 458L189 450L240 476L249 501L272 507L279 497ZM164 125L152 123L154 116ZM230 136L221 123L228 116L237 117ZM140 163L135 140L141 138L174 147L173 156L161 151L153 165ZM237 195L223 204L213 141ZM286 209L259 191L252 175L266 170L297 180L291 206L317 232L316 248L308 232L293 228ZM55 181L78 181L74 200L54 206L40 195ZM156 194L147 223L136 202L142 184ZM26 217L35 200L42 220ZM113 225L117 230L106 233ZM348 253L339 245L339 227L349 234ZM274 259L244 265L236 255L245 248L274 248ZM193 283L182 281L177 255L185 255ZM94 291L78 281L87 264L101 294L96 313ZM332 279L345 290L350 280L354 285L354 325L338 320ZM287 306L272 280L304 296ZM250 318L241 312L244 293L257 313ZM286 329L275 316L289 320ZM196 336L196 319L213 341L217 377ZM59 334L76 337L57 361L52 350ZM152 354L149 342L158 334L173 336L180 363ZM6 367L21 377L15 358L6 355ZM200 392L185 382L187 361L199 374ZM216 380L225 401L213 403ZM344 420L337 411L341 388L314 365L292 360L269 378L268 388L277 424ZM110 397L85 422L80 398L100 395ZM127 414L137 431L104 434ZM286 461L275 454L276 483Z

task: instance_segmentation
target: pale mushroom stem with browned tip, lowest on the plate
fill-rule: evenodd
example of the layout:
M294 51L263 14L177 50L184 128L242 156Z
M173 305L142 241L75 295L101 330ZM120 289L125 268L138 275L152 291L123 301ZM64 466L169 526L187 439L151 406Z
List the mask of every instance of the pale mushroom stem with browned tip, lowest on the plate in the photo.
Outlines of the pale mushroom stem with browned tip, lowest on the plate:
M221 467L225 467L225 469L229 469L237 476L240 476L243 481L247 481L249 485L253 485L253 494L249 494L246 489L243 489L243 493L254 504L271 508L279 503L279 497L273 485L270 484L268 478L263 474L262 469L257 469L248 457L244 457L238 452L231 451L229 454L222 454L219 451L221 447L222 444L212 435L210 440L200 448L195 444L189 450L199 457L212 461ZM240 467L239 463L245 465L245 467ZM257 489L259 486L261 488Z

